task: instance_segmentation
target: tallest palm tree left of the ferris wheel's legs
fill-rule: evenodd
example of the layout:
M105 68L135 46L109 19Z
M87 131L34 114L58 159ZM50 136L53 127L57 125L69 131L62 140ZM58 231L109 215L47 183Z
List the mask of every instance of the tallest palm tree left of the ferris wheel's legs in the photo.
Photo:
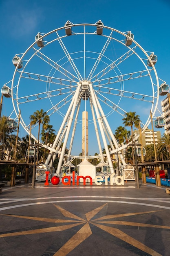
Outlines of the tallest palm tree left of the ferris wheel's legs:
M32 124L38 124L38 145L37 145L37 163L38 163L38 149L39 149L39 141L40 141L40 126L41 124L44 126L49 123L50 118L43 109L40 111L37 110L30 116Z

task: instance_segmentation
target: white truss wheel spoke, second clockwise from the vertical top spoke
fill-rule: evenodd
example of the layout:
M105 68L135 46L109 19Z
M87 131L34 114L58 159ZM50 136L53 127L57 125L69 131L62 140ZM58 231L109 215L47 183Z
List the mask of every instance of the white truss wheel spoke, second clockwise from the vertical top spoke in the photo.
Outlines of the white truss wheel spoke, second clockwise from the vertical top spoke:
M136 46L134 47L136 48ZM117 60L113 61L111 64L108 64L107 67L105 67L103 70L101 70L99 73L95 74L95 76L93 76L91 78L92 79L99 79L102 78L103 76L105 76L108 72L110 72L111 70L114 70L115 67L117 67L120 63L122 63L123 61L125 61L127 58L129 58L132 54L135 54L134 48L130 49L128 52L126 52L125 54L121 55L119 58L117 58Z

